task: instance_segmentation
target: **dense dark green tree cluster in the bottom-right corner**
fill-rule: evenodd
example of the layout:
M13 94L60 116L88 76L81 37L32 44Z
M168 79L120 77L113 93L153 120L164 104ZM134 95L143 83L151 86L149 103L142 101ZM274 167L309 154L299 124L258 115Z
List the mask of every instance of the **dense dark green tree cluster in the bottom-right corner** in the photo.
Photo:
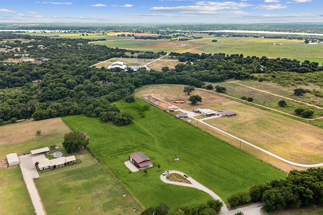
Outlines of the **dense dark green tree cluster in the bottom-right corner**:
M285 180L254 185L249 193L235 194L229 199L237 203L235 206L239 202L241 205L263 201L266 211L323 205L323 168L292 170Z

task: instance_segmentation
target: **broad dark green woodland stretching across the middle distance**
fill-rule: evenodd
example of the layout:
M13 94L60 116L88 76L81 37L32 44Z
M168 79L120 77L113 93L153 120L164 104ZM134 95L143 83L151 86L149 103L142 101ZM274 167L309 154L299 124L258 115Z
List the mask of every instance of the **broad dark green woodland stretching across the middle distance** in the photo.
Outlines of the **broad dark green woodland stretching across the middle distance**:
M257 80L255 74L262 73L265 74L263 81L323 85L323 68L317 62L306 60L172 52L172 57L183 62L175 69L147 71L141 68L113 73L110 69L91 65L113 57L129 57L128 50L89 44L90 40L85 39L11 32L1 32L0 37L6 41L3 46L13 48L0 54L0 60L4 62L0 65L0 125L19 119L40 120L75 114L101 117L102 121L121 119L121 125L131 123L131 116L107 114L114 109L109 104L132 94L135 88L149 84L184 84L201 88L203 82ZM15 54L29 54L36 63L6 63L9 58L21 58ZM157 58L163 54L166 53L147 51L138 57Z

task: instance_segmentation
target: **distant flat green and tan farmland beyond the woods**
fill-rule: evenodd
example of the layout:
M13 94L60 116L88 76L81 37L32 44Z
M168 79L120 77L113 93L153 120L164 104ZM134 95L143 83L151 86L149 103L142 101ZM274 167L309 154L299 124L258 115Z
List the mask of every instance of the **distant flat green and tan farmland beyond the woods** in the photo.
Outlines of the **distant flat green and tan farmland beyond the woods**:
M129 34L123 32L124 34ZM253 37L214 37L208 34L194 34L203 36L202 39L177 41L177 40L139 40L131 37L118 37L117 34L107 33L91 34L82 36L80 33L24 33L29 35L60 36L63 38L83 38L83 39L106 39L106 41L93 41L97 45L106 45L108 47L119 47L142 51L165 51L165 52L195 52L195 53L226 53L243 54L244 56L267 56L281 57L288 59L297 59L323 63L322 45L305 44L302 40L271 39L271 38L253 38ZM152 35L152 34L141 34ZM212 40L218 40L213 43Z

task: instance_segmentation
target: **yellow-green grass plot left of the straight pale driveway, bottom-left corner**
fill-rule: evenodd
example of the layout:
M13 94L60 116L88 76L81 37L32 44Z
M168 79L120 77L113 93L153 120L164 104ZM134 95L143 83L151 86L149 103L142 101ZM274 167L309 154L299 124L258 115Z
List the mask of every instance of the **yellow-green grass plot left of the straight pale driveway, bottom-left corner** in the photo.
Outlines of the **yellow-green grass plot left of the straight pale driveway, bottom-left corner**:
M19 166L0 169L0 213L35 214Z

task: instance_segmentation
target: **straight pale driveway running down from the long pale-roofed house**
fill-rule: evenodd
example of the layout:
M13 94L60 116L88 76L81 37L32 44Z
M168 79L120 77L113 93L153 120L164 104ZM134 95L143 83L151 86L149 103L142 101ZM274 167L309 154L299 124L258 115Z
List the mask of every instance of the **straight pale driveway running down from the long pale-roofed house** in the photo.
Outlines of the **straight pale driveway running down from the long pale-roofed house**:
M43 206L43 203L41 201L40 195L38 193L36 184L34 182L34 178L39 178L39 174L36 170L35 163L41 158L45 158L45 156L39 155L39 156L32 157L31 154L19 156L20 169L24 177L24 181L26 183L26 187L27 187L32 205L34 206L35 213L37 215L47 214Z

